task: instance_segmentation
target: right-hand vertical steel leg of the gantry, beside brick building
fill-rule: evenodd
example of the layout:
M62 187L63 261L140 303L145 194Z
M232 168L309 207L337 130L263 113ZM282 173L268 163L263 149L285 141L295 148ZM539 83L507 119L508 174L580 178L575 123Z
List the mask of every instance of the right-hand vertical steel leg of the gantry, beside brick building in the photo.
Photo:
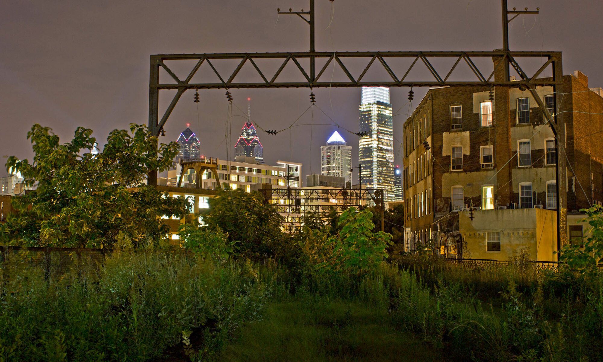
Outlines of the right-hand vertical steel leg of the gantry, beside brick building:
M561 64L561 56L555 57L552 62L553 80L563 80L563 66ZM557 129L557 137L555 137L555 148L557 151L557 250L560 250L568 243L567 239L567 168L566 168L566 144L565 144L565 122L563 113L561 112L561 99L563 98L563 85L554 85L555 92L555 129ZM559 255L557 254L557 257Z

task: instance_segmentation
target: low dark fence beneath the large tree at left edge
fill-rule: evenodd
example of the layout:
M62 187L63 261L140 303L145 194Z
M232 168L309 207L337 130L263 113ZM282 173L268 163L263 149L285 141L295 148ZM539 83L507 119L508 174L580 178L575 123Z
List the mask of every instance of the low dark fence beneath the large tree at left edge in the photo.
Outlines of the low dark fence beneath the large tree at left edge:
M1 283L14 278L44 278L65 275L98 276L111 250L69 247L0 246Z

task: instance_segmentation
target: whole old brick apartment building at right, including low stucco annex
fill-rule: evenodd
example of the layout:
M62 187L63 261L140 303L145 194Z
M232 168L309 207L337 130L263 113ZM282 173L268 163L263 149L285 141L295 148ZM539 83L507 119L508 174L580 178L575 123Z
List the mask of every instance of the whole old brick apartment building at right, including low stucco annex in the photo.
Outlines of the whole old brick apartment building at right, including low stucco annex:
M577 71L563 76L563 90L560 112L566 126L561 143L568 185L564 192L567 231L573 238L585 231L578 222L583 217L579 209L603 200L603 143L596 137L603 132L603 97L590 91L586 75ZM537 92L554 113L552 87L538 87ZM430 238L441 239L444 233L457 255L464 245L465 257L505 259L520 247L529 247L533 259L556 258L552 254L557 250L557 156L546 122L527 91L429 89L404 124L410 248ZM475 220L466 211L471 207L478 209ZM526 210L511 211L520 208ZM444 249L451 251L447 245Z

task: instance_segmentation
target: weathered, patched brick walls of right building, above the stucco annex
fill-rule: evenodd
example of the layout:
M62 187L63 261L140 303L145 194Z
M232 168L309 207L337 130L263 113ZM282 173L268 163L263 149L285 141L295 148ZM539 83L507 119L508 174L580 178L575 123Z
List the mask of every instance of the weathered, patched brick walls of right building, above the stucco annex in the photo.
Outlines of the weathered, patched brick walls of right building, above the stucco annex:
M495 77L502 76L499 72ZM603 97L589 90L587 77L580 72L564 75L563 83L560 111L566 123L567 210L576 214L603 201ZM537 92L545 100L552 96L552 87L538 87ZM455 107L454 119L451 107ZM529 111L521 112L523 107ZM424 141L430 151L423 147ZM466 206L556 209L556 156L546 152L554 151L554 135L527 90L430 89L404 124L404 142L405 222L411 249L415 240L425 243L430 238L438 220ZM491 164L484 158L489 147ZM452 169L453 156L458 170ZM482 193L492 197L482 200Z

